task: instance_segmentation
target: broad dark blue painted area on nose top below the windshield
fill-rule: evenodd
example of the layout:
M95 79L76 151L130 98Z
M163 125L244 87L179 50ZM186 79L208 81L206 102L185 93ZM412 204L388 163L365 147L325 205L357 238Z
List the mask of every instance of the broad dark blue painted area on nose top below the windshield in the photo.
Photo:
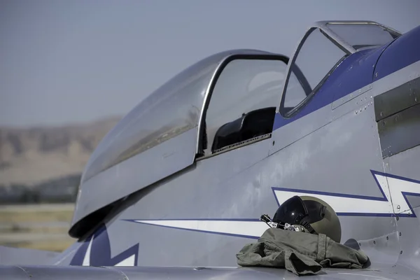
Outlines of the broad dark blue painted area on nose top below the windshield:
M379 48L346 57L304 108L291 118L276 113L273 131L420 60L420 26ZM374 77L374 73L378 76Z

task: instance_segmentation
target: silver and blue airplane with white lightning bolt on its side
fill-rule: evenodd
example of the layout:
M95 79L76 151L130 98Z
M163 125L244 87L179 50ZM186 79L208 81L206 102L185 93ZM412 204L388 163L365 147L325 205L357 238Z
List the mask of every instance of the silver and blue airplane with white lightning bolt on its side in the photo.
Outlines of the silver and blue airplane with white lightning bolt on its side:
M78 240L2 247L0 278L295 279L236 254L311 195L371 265L308 279L419 279L419 159L420 26L315 22L290 57L218 52L146 97L87 162Z

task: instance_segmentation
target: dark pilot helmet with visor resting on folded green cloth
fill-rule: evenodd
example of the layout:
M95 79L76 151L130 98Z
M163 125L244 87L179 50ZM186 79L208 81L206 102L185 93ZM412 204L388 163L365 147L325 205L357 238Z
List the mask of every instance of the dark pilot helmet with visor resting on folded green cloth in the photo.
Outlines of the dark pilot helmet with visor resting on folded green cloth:
M273 218L278 228L289 225L300 225L305 232L324 234L339 243L341 225L334 209L323 200L311 196L290 197L277 209Z

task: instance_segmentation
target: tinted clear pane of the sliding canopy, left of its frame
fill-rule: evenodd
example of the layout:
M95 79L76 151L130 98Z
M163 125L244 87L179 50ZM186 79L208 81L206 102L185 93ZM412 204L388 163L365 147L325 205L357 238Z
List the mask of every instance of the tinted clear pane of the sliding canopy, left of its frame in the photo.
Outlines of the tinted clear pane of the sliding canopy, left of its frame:
M104 137L82 181L198 125L204 94L223 53L193 64L150 94Z

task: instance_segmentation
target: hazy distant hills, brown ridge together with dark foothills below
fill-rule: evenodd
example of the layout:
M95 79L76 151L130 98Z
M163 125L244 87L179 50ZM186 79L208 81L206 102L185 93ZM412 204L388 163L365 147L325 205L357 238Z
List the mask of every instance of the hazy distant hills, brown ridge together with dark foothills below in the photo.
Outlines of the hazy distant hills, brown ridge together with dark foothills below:
M0 204L73 202L87 160L119 120L0 127Z

